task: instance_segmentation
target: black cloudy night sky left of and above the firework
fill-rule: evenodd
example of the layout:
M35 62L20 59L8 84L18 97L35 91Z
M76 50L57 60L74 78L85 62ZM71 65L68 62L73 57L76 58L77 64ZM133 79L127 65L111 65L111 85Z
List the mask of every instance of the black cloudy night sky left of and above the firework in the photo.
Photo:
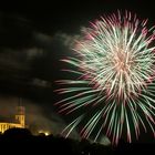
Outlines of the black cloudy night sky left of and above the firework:
M11 107L16 97L22 97L25 106L42 111L34 112L33 116L41 114L54 124L52 130L58 130L63 126L61 123L65 124L53 106L60 100L53 92L58 89L55 81L64 76L60 59L73 55L71 46L81 29L117 10L132 11L153 25L155 13L149 0L32 2L0 6L0 105Z

